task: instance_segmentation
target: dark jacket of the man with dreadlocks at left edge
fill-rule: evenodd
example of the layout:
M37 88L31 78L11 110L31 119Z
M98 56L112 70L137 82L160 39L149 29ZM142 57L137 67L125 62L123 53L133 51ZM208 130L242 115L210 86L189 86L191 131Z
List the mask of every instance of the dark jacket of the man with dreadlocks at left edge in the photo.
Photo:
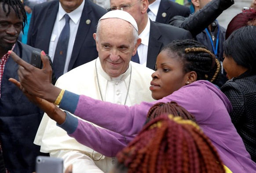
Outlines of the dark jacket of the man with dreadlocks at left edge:
M40 51L19 41L13 49L26 62L30 62L33 50ZM11 57L4 66L0 86L0 141L8 171L32 173L37 155L45 155L40 152L40 146L33 144L44 112L8 80L18 80L18 67Z

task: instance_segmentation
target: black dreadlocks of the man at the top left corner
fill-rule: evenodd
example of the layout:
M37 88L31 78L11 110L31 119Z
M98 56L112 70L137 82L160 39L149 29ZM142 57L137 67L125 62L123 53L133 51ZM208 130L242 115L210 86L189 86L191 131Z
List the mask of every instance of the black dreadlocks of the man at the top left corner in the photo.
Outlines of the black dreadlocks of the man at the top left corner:
M6 13L6 16L10 14L11 8L12 8L17 14L19 19L22 17L22 20L23 20L22 32L24 32L24 27L27 24L27 14L21 0L0 0L0 3L2 3L2 8ZM8 9L5 8L5 4L7 4Z

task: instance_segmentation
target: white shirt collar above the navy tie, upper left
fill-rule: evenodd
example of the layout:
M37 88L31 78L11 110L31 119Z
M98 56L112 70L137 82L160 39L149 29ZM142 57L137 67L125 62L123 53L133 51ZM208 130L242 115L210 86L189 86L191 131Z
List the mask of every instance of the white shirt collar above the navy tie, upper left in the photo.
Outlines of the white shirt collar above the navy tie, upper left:
M60 21L65 14L69 14L70 19L77 24L77 22L79 21L79 19L81 18L82 12L84 9L84 0L82 2L82 4L80 4L79 7L77 7L74 11L71 11L70 13L67 13L61 6L61 4L59 3L59 18L58 20Z

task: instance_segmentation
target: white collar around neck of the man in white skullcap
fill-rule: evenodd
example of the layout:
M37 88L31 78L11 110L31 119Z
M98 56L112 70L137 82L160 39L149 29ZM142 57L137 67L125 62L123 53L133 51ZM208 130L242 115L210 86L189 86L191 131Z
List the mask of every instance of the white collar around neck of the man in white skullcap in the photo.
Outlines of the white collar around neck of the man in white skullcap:
M97 66L97 69L98 69L98 72L101 76L103 76L105 79L107 79L108 81L116 81L116 82L121 82L122 80L126 79L129 75L130 75L130 72L131 72L131 63L129 64L129 67L128 69L126 70L126 72L124 72L123 74L121 74L120 76L116 77L116 78L113 78L113 77L110 77L106 72L104 72L104 70L102 69L102 66L100 64L100 61L99 61L99 57L96 59L96 66Z

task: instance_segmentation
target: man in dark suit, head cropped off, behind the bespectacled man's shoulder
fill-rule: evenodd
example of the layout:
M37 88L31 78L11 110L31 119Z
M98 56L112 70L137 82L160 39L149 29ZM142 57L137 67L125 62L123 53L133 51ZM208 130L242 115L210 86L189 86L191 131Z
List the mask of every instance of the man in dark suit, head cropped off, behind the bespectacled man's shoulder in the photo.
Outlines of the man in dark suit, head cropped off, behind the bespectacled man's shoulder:
M188 17L190 9L184 5L180 5L171 0L148 0L149 8L148 15L152 21L165 23L171 20L172 17L179 15Z

